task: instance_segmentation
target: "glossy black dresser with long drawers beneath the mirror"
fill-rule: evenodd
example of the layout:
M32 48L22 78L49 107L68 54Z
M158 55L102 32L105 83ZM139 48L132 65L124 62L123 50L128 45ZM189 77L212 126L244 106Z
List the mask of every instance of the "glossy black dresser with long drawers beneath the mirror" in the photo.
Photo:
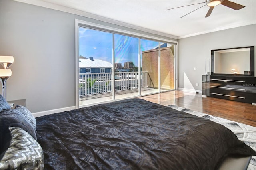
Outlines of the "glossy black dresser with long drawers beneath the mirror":
M202 95L256 105L256 77L202 75Z

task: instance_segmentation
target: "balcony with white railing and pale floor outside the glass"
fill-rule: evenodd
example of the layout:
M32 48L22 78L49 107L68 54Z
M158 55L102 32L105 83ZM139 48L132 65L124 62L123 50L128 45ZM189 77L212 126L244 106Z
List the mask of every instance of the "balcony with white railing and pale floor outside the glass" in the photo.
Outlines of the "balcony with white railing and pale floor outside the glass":
M113 101L112 90L115 90L114 100L140 97L160 92L158 88L149 87L152 82L148 71L121 72L114 75L112 88L112 73L80 73L79 106L86 107L98 103ZM139 84L140 82L140 84ZM139 87L141 93L139 94ZM161 92L166 91L161 89Z

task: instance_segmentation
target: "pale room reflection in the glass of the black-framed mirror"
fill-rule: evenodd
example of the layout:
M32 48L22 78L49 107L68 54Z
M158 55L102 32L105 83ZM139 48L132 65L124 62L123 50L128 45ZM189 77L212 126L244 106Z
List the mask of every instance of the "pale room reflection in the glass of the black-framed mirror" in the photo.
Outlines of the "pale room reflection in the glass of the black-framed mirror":
M250 71L250 48L214 51L215 74L244 74Z

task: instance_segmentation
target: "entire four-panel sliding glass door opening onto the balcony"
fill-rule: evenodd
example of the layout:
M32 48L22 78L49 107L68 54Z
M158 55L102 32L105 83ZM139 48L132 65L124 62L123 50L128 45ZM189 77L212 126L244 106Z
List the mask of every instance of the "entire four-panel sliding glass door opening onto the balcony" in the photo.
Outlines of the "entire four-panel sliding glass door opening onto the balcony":
M79 26L79 107L174 89L174 47Z

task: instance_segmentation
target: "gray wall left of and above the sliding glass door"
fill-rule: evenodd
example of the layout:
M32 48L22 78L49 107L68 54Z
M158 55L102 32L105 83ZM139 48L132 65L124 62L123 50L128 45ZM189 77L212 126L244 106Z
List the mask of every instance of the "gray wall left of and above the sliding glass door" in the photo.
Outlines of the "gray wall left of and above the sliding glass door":
M32 113L75 106L75 19L172 40L58 10L0 0L0 55L14 56L7 100L26 99Z

